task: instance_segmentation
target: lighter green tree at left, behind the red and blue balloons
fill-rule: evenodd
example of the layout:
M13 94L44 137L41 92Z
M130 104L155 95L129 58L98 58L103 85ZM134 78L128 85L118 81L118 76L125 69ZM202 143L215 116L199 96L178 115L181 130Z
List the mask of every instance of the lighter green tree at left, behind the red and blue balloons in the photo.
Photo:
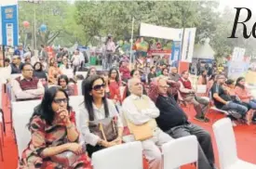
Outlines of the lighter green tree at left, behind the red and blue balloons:
M19 20L21 41L25 41L26 33L32 34L34 45L34 10L36 19L36 44L52 45L56 41L63 45L73 45L82 42L83 32L74 20L74 5L65 1L42 1L42 4L19 2ZM30 28L23 28L22 22L28 20ZM47 31L41 32L40 25L46 24ZM58 44L59 45L59 44Z

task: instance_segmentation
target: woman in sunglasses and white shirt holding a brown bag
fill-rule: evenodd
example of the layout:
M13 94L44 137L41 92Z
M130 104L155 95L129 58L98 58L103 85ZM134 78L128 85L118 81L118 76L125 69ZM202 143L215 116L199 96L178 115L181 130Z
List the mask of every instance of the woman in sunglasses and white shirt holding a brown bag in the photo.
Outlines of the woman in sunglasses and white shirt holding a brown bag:
M83 88L87 92L80 106L79 123L91 157L95 151L121 144L123 124L115 104L105 96L105 82L101 76L89 76Z

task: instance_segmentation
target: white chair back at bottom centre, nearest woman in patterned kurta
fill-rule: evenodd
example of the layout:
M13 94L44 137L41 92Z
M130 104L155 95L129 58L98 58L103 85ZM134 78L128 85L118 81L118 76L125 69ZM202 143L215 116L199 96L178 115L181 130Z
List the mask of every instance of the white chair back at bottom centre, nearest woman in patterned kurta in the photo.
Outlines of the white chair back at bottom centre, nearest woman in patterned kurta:
M92 154L93 169L142 169L141 142L117 145Z

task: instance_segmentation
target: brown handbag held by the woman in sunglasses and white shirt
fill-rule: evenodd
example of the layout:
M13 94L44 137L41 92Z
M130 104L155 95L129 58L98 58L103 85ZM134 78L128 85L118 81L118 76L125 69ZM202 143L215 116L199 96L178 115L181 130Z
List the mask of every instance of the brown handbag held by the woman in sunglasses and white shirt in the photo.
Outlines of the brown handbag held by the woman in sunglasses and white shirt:
M91 133L108 142L115 140L118 136L117 117L89 121L88 128Z

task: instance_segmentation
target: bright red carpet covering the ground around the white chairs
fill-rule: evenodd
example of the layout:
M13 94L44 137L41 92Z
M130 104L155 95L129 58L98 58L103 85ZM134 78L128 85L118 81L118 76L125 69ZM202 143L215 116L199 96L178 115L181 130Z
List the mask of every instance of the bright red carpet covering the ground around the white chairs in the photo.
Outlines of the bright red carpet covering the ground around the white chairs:
M7 100L3 100L4 112L6 122L9 122L9 110L7 109ZM216 143L212 135L211 123L199 123L193 119L195 115L194 109L186 109L189 115L190 121L196 123L206 130L208 130L212 136L213 147L215 152L216 162L218 163L218 155L216 150ZM215 112L213 112L215 113ZM209 114L209 118L212 114ZM222 114L217 115L217 119L222 118ZM238 125L235 127L236 132L236 143L238 157L242 160L248 161L250 163L256 163L256 125ZM18 151L13 138L13 133L10 128L10 123L7 123L7 136L5 136L5 146L4 146L4 163L0 162L0 169L16 169L18 163ZM182 167L182 169L194 169L195 167L191 164Z

